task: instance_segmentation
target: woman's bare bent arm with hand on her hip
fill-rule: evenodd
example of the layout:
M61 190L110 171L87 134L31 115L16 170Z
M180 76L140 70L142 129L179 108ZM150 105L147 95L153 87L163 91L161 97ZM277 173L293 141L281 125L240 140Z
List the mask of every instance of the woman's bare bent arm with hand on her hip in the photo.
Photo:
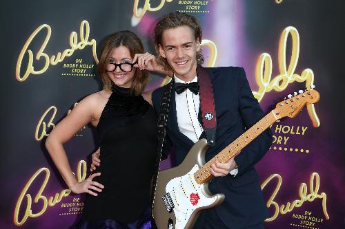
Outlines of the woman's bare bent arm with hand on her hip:
M72 174L68 157L63 149L64 143L70 140L70 138L72 138L81 128L85 127L89 122L92 122L95 119L93 111L93 109L97 107L95 106L95 103L97 103L95 100L97 100L95 94L81 100L81 102L72 109L70 114L57 124L46 140L46 148L50 157L52 157L52 161L55 166L57 166L68 188L70 188L73 193L90 193L91 195L97 195L97 193L92 192L90 189L100 192L100 188L103 188L103 185L97 182L92 182L92 179L95 176L100 175L100 173L91 175L83 182L78 182Z

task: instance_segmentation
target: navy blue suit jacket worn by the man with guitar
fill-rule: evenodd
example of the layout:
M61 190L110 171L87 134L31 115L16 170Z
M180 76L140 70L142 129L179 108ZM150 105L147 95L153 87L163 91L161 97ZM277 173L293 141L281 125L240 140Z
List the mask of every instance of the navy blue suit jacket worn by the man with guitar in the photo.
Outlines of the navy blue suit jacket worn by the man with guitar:
M257 99L249 87L244 69L241 67L206 68L210 74L215 96L217 115L216 144L206 152L206 162L233 142L245 129L264 117ZM161 95L166 89L161 87L152 93L152 102L157 113ZM199 121L201 122L199 112ZM166 127L168 140L175 148L177 164L180 164L193 142L179 131L177 125L175 89L172 88L170 111ZM272 132L267 129L250 142L235 157L239 173L215 177L209 184L211 193L224 193L225 200L215 207L220 219L232 229L246 228L264 221L268 216L266 203L259 186L259 176L254 165L268 151L272 144Z

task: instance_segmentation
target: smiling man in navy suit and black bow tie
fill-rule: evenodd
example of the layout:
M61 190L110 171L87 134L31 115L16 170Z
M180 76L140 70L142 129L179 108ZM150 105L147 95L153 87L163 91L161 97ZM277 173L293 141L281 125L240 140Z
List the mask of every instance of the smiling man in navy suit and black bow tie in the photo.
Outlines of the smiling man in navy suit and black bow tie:
M204 61L200 54L201 34L199 21L186 13L168 14L157 23L155 47L159 63L174 72L175 84L198 81L197 65ZM264 117L264 113L253 97L244 69L215 67L206 71L210 74L217 118L215 146L206 152L207 162L245 128ZM152 93L157 113L165 87ZM197 140L205 138L199 107L199 94L193 94L190 89L177 94L175 85L172 86L166 134L175 149L177 165ZM202 210L194 228L264 228L268 213L254 165L271 144L272 133L267 129L234 159L225 164L212 164L215 178L209 189L213 194L224 193L225 200L215 208Z

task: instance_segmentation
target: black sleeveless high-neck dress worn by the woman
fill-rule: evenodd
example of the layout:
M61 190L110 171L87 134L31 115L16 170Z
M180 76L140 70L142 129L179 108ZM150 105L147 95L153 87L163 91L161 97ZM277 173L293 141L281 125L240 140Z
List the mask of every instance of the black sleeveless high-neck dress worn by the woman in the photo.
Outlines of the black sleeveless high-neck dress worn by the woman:
M157 152L157 115L131 89L112 87L97 131L101 165L98 196L86 194L77 228L154 228L150 187Z

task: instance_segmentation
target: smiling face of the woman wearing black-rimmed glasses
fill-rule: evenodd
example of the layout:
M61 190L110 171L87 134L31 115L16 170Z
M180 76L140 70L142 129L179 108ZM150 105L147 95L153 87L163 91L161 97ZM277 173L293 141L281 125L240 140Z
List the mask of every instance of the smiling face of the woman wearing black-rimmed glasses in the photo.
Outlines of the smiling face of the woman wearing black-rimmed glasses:
M132 57L130 56L130 51L127 47L121 45L112 49L108 63L106 64L106 69L114 69L115 65L113 65L113 63L132 63ZM126 65L121 65L121 67L124 71L128 71ZM119 66L116 66L114 71L107 72L107 74L115 85L130 88L132 87L135 71L135 67L132 67L131 72L123 72Z

